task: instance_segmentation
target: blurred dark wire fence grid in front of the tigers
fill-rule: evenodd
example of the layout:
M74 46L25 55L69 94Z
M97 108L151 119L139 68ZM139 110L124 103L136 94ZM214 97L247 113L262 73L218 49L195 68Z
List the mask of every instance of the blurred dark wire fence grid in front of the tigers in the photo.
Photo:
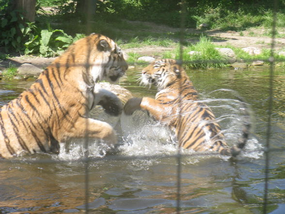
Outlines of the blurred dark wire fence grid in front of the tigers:
M88 8L93 8L90 5L96 4L96 0L88 0ZM185 18L186 18L186 2L182 0L180 3L181 6L181 22L180 22L180 38L179 38L179 60L181 63L185 63L183 61L183 44L184 43L184 36L185 36ZM276 13L278 8L278 0L273 0L273 22L272 22L272 38L271 38L271 47L270 47L270 73L269 73L269 109L268 109L268 122L267 122L267 138L266 138L266 145L263 149L265 154L265 186L264 186L264 204L263 204L263 214L268 212L267 205L268 205L268 189L269 189L269 153L276 152L276 151L285 151L285 147L283 148L270 148L270 136L271 136L271 114L272 114L272 107L273 107L273 81L274 81L274 63L276 60L274 59L274 46L275 46L275 36L276 36ZM91 29L92 24L92 15L94 11L89 10L87 17L87 32ZM191 63L191 62L188 62ZM193 63L193 62L192 62ZM86 64L86 69L91 66ZM181 88L181 87L180 87ZM180 97L181 103L181 97ZM180 104L181 105L181 104ZM181 108L180 108L181 109ZM181 114L178 116L178 120L180 119ZM87 121L88 123L88 121ZM88 124L86 124L88 126ZM160 158L175 158L177 161L177 178L176 178L176 214L180 214L180 191L181 191L181 159L184 157L195 157L195 156L208 156L208 155L217 155L217 152L195 152L192 154L181 154L180 147L177 149L177 153L174 155L141 155L141 156L118 156L118 155L107 155L105 157L89 157L89 139L88 133L85 133L85 140L84 140L84 158L77 159L77 160L55 160L55 159L5 159L1 160L1 162L6 163L28 163L28 164L57 164L57 163L82 163L85 168L85 213L89 213L89 165L90 163L94 163L97 161L126 161L126 160L146 160L146 159L160 159ZM254 152L254 151L251 151Z

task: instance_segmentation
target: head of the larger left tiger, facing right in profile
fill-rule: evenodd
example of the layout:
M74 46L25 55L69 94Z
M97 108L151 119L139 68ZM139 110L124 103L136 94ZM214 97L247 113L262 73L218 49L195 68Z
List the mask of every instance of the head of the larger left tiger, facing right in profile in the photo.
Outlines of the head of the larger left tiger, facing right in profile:
M75 58L75 64L86 67L91 82L116 82L128 67L118 45L102 34L91 33L79 39L67 52L80 55Z

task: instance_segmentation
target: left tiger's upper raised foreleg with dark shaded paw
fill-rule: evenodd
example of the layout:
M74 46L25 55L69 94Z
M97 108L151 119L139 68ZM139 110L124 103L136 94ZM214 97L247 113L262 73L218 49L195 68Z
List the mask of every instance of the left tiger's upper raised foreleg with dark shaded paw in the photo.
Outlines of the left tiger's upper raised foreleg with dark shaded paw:
M95 88L95 99L93 105L100 105L105 112L112 116L118 116L123 111L121 100L111 91L103 88Z

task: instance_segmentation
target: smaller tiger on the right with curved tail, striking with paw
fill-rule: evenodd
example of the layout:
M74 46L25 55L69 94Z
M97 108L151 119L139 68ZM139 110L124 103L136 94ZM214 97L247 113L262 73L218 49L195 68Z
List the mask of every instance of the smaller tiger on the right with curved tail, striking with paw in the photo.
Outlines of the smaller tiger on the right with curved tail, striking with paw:
M198 93L182 67L181 61L158 59L143 68L141 83L154 84L158 93L155 99L131 98L124 106L124 114L132 115L136 110L146 111L156 121L174 130L178 146L199 152L218 152L237 156L244 148L250 130L249 112L245 112L242 136L237 145L229 147L215 121L211 109L198 100ZM241 98L240 98L241 99ZM244 103L244 102L242 102ZM244 106L246 103L244 103Z

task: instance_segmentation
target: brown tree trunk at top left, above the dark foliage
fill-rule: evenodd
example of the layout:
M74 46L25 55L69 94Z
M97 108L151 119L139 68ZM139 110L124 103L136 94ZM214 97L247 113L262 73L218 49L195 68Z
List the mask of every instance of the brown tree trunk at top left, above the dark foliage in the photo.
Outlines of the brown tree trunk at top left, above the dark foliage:
M36 0L16 0L16 9L23 12L24 19L34 21Z

